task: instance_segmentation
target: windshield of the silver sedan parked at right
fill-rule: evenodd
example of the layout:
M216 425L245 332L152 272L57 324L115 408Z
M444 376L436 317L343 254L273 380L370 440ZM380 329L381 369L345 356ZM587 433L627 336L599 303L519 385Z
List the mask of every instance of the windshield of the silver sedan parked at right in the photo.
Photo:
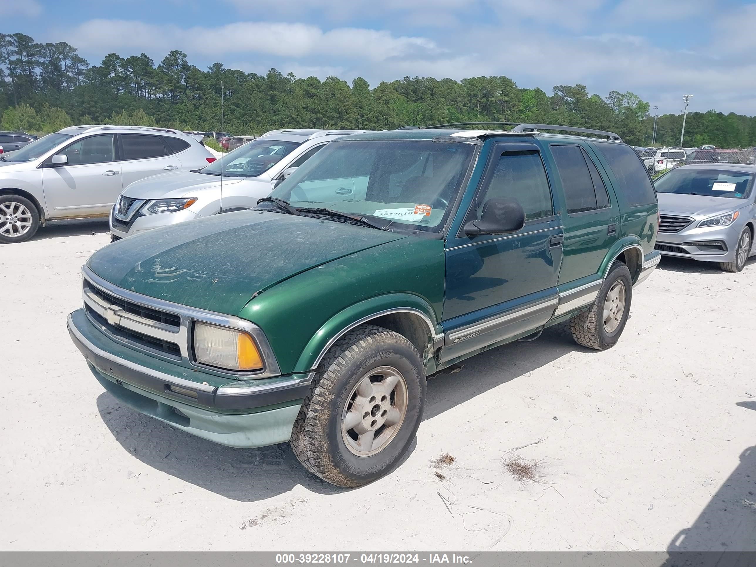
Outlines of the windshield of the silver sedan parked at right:
M654 182L658 193L705 195L745 199L751 193L753 175L722 169L672 169Z

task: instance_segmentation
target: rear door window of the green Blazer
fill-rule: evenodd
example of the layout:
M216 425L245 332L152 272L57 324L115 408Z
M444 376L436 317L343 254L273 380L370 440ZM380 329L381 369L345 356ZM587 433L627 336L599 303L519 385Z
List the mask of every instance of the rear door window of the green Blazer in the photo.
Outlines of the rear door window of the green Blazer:
M609 206L606 187L583 148L553 144L551 153L562 180L568 214L606 209Z

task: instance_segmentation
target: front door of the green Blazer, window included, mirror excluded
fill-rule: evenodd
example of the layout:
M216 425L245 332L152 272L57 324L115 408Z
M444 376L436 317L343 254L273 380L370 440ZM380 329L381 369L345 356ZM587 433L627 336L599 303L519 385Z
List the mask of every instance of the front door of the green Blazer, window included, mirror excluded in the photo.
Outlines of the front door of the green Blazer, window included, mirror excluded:
M472 205L460 211L465 222L480 218L491 198L516 200L525 226L513 234L448 237L445 360L539 327L556 308L562 226L537 144L494 144Z

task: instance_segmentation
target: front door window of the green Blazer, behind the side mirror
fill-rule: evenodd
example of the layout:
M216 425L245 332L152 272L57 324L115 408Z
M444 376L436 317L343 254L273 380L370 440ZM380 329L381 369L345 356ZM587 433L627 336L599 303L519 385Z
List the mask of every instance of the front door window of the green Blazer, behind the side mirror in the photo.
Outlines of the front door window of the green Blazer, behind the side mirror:
M513 199L525 209L525 220L553 215L551 191L544 163L537 151L511 151L500 155L494 175L479 197L478 218L488 199Z

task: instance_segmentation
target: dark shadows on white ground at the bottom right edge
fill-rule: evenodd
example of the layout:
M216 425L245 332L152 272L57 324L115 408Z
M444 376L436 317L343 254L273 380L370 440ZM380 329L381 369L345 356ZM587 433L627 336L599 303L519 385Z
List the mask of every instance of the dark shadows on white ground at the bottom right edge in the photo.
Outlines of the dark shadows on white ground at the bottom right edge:
M756 410L754 401L736 405ZM739 458L738 466L696 521L670 542L665 565L752 565L756 551L756 446L746 448Z

